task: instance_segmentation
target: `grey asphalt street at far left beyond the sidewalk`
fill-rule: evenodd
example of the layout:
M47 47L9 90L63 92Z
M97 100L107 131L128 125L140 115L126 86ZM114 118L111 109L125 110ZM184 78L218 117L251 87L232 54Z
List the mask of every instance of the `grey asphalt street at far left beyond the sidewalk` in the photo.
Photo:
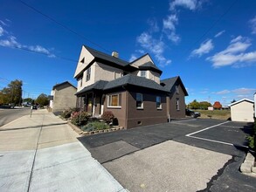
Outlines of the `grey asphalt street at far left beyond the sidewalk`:
M10 123L12 120L16 120L26 114L30 113L30 108L14 108L14 109L2 109L0 108L0 127Z

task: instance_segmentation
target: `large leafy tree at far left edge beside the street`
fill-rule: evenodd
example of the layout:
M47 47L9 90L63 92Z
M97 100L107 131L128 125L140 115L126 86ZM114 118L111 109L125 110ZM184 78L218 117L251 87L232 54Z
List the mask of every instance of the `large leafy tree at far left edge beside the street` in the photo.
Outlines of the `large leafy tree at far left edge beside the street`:
M10 81L7 87L3 87L0 92L0 104L14 104L21 103L22 100L22 80Z

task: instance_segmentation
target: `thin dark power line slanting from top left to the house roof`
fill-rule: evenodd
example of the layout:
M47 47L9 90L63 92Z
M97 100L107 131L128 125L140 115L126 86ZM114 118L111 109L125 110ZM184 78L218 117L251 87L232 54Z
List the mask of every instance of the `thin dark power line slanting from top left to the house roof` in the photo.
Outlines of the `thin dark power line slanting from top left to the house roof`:
M91 44L93 44L93 45L95 45L95 46L98 46L100 49L102 49L102 50L104 50L104 51L111 52L111 51L108 51L107 49L105 49L104 47L102 47L101 45L98 45L98 44L94 43L93 41L89 40L89 39L86 38L85 36L81 35L79 32L74 31L73 29L67 27L65 24L61 24L61 23L60 23L59 21L57 21L56 19L54 19L54 18L52 18L52 17L46 15L46 14L43 13L42 11L40 11L40 10L36 9L35 7L31 6L30 4L25 3L25 2L22 1L22 0L19 0L19 2L20 2L20 3L23 3L25 6L27 6L27 7L30 8L31 10L36 11L38 14L40 14L40 15L46 17L47 19L51 20L53 23L58 24L58 25L61 26L62 28L66 29L66 31L72 32L72 33L75 34L76 36L85 39L87 42L89 42L89 43L91 43Z

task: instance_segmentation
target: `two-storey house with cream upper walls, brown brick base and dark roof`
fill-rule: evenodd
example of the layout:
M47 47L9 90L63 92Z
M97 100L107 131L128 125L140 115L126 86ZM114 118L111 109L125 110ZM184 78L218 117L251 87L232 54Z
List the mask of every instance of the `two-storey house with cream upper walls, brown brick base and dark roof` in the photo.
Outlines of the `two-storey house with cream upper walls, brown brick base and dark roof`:
M185 116L179 77L160 82L162 71L149 54L129 63L83 46L74 78L78 81L77 107L100 117L112 111L122 127L139 127Z

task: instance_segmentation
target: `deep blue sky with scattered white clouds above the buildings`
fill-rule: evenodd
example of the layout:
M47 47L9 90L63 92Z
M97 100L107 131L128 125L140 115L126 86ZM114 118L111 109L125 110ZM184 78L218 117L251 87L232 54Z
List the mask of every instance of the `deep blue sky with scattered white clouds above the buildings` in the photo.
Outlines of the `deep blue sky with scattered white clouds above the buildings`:
M88 45L124 60L148 52L162 79L183 79L187 103L253 99L255 7L254 0L2 0L0 89L21 79L24 97L37 98L56 83L76 86Z

